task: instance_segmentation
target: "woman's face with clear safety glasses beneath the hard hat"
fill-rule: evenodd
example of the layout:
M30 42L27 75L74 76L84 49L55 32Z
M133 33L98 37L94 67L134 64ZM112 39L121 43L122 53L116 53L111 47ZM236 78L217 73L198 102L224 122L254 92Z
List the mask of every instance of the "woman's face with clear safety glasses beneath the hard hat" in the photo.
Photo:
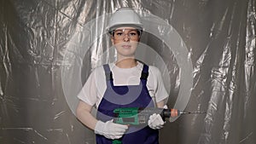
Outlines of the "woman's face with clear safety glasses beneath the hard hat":
M134 57L140 33L133 27L119 27L113 31L111 41L119 56Z

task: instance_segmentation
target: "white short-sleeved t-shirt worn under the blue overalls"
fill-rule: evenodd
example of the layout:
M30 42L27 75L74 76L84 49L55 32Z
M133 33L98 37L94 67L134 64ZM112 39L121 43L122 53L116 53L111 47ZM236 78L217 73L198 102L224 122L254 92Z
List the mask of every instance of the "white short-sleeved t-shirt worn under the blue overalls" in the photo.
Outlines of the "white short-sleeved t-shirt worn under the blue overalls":
M137 66L131 68L119 68L115 64L109 64L113 74L113 85L138 85L140 83L143 64L138 62ZM154 100L154 104L163 101L168 97L166 88L161 78L160 70L155 66L148 68L147 88L149 95ZM107 89L106 76L103 66L96 67L90 73L89 78L79 92L79 100L90 106L98 107Z

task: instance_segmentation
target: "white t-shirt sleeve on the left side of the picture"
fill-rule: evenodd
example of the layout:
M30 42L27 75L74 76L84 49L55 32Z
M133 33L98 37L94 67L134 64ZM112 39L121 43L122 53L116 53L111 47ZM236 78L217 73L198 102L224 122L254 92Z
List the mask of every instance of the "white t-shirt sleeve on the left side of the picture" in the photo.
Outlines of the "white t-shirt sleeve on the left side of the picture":
M89 78L85 82L83 88L80 90L78 98L81 101L94 106L96 104L96 72L90 73Z

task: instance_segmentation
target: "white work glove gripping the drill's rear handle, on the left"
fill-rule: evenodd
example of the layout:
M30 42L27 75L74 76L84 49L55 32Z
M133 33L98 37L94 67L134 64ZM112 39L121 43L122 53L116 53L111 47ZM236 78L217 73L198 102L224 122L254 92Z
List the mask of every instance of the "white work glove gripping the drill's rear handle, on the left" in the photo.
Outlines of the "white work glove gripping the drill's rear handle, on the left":
M99 135L104 135L108 139L119 139L124 134L125 131L128 129L127 125L123 124L114 124L113 120L110 120L106 123L102 121L98 121L96 123L96 127L94 132Z

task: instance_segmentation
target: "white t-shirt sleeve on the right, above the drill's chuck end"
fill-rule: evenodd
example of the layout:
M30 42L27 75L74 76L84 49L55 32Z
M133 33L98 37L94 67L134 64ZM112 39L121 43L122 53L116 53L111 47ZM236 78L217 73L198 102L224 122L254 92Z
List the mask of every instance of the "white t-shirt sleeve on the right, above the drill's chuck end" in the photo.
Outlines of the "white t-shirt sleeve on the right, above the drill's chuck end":
M155 66L150 66L152 72L154 73L154 96L155 101L160 102L166 100L168 98L168 93L166 91L165 84L163 82L163 78L160 70Z

